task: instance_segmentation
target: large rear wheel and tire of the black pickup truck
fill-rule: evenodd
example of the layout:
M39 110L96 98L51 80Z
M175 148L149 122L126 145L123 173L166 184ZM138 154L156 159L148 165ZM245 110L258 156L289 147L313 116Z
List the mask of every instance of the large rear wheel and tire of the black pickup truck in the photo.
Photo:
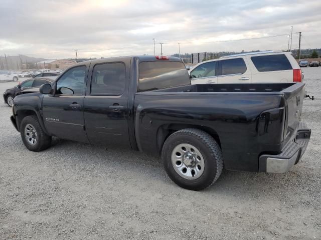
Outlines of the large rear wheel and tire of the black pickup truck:
M221 175L223 156L214 138L199 129L185 128L170 135L162 149L169 177L179 186L202 190Z

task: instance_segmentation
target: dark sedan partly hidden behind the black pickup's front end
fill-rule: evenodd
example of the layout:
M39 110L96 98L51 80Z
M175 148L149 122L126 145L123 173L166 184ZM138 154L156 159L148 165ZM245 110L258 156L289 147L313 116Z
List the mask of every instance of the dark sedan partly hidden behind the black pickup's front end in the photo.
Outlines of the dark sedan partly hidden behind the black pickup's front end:
M16 85L13 88L7 89L4 92L4 100L9 106L13 105L13 100L15 96L39 91L39 86L45 83L51 83L56 79L56 77L42 77L42 78L31 78L23 81L22 83Z

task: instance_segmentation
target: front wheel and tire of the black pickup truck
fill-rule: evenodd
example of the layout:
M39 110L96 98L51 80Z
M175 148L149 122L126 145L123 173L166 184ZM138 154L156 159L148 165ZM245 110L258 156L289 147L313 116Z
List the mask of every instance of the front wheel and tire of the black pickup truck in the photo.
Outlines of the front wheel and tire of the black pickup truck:
M22 119L20 134L25 146L31 151L42 151L51 144L51 136L44 132L36 115Z

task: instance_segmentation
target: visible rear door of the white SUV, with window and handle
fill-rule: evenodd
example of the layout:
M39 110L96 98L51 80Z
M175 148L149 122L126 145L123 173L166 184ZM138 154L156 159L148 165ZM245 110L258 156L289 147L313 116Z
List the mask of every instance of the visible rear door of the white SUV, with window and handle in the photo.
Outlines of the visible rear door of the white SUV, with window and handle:
M218 83L250 83L251 71L242 57L219 60Z

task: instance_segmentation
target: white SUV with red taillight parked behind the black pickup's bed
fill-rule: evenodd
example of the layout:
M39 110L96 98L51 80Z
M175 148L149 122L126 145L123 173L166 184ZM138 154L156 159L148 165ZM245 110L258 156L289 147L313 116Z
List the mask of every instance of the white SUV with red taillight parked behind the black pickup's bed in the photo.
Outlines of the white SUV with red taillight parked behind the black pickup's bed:
M261 51L222 56L198 63L190 71L192 84L302 81L291 52Z

